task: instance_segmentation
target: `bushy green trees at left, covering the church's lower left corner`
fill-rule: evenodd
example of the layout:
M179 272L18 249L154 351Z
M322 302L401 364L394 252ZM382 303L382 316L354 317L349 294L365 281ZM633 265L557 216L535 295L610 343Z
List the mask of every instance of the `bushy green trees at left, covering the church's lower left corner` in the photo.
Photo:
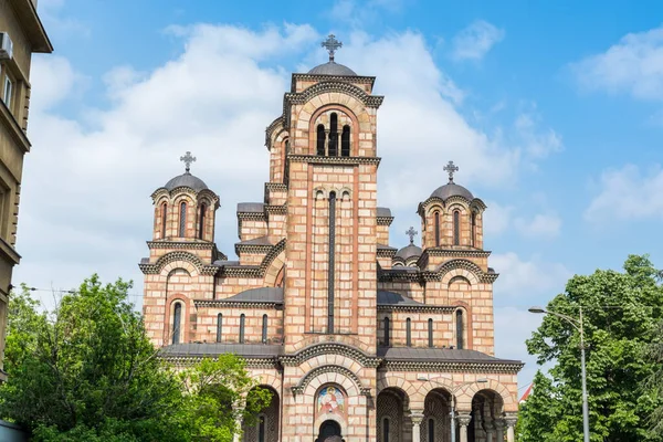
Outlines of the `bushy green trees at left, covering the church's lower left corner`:
M234 355L183 373L166 366L127 301L130 287L94 275L51 313L25 287L12 295L0 417L38 442L211 442L239 431L233 406L249 391L248 419L269 403Z

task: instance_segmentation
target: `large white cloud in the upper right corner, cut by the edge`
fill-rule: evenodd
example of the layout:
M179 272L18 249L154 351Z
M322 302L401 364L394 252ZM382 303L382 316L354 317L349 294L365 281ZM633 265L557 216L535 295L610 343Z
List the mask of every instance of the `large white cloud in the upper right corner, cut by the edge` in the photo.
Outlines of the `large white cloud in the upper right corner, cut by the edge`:
M608 51L588 56L571 69L587 90L663 101L663 27L627 34Z

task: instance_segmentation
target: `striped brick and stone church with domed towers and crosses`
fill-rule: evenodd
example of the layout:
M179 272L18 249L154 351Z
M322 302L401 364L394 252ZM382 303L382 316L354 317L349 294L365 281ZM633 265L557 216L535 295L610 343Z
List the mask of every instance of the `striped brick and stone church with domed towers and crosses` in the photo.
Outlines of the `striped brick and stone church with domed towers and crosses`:
M261 202L238 204L238 260L217 249L220 197L190 152L152 193L149 337L179 366L245 359L273 399L242 441L513 442L523 364L494 356L486 206L441 164L412 206L421 241L410 228L393 246L377 196L383 97L334 61L334 35L323 46L329 61L292 75L266 128L270 177Z

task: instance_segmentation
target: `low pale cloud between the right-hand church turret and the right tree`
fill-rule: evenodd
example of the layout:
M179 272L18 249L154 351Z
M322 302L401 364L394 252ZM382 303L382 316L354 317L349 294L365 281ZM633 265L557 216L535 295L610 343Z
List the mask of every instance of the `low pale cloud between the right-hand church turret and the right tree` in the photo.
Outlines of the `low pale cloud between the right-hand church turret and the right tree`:
M514 252L492 255L491 266L499 273L494 286L496 297L527 299L538 294L552 297L564 291L572 276L564 264L545 262L538 256L523 261Z

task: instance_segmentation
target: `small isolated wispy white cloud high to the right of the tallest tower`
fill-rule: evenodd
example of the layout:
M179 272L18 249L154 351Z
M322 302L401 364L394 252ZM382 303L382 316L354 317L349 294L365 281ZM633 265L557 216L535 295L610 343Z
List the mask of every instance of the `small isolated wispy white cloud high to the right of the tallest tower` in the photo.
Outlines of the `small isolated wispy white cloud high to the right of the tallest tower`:
M504 39L504 30L484 20L476 20L453 38L451 56L456 61L482 60Z

